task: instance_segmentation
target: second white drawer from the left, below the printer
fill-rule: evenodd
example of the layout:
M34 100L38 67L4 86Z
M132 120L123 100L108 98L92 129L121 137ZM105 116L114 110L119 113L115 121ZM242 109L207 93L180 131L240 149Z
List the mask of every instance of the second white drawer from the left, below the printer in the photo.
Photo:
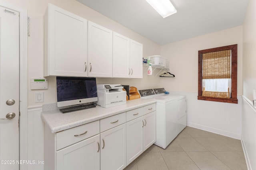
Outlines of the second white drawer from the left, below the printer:
M126 122L126 113L106 117L100 120L100 132L106 131Z

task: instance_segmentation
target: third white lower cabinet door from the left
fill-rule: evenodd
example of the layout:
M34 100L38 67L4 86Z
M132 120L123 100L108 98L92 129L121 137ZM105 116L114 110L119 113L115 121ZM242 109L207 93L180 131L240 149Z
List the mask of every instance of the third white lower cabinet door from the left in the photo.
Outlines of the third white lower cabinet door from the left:
M143 116L126 123L127 165L143 152Z

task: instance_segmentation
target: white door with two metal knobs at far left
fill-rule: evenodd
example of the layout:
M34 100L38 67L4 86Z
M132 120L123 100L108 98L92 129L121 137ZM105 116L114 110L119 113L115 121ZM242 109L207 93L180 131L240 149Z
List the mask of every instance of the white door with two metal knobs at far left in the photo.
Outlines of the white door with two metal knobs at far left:
M0 170L19 169L18 123L19 13L0 7Z

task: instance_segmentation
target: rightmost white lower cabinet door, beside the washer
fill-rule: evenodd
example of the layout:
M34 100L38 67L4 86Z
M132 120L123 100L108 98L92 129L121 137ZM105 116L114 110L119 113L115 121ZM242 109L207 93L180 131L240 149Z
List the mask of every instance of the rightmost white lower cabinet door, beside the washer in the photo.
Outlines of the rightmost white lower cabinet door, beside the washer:
M144 115L144 151L156 142L156 111Z

